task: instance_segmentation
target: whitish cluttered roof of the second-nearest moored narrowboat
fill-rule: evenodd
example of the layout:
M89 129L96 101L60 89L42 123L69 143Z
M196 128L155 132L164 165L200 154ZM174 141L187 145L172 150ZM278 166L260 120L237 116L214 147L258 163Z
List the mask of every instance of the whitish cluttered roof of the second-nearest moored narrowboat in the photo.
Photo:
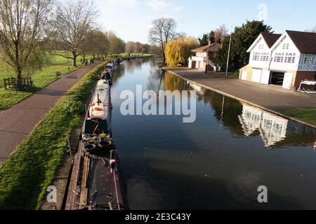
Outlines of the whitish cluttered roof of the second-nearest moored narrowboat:
M98 102L99 100L99 102ZM107 119L110 102L110 85L106 80L99 80L96 91L89 106L89 116L91 119Z

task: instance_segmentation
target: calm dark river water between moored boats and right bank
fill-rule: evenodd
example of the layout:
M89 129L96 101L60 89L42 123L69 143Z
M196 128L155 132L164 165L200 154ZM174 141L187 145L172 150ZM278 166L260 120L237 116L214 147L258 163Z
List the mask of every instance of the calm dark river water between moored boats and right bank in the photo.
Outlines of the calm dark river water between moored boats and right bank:
M197 90L197 120L121 116L123 90ZM163 73L124 62L113 134L131 209L316 209L316 131ZM169 106L169 105L165 105ZM258 204L258 186L268 204Z

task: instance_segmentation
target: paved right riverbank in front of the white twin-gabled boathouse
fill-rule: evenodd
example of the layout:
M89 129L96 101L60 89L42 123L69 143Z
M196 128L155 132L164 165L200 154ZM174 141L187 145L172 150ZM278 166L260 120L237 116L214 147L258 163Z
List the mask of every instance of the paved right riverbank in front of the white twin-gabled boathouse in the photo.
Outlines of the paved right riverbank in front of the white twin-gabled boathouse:
M316 128L316 97L313 94L291 92L277 85L226 79L220 73L205 74L187 68L164 67L163 69L208 90Z

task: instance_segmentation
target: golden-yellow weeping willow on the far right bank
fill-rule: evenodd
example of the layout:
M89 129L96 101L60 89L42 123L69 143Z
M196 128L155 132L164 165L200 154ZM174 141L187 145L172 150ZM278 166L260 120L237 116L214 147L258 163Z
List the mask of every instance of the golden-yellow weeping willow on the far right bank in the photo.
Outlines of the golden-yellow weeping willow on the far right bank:
M168 66L186 64L192 55L191 50L197 47L197 39L192 37L180 37L169 41L166 45L166 63Z

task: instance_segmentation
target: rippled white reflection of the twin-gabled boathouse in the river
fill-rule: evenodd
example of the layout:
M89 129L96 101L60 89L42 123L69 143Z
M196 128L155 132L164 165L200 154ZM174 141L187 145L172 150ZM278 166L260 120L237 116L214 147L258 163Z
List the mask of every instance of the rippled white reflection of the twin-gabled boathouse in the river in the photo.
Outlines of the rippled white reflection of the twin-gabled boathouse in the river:
M287 120L273 113L263 111L254 106L243 104L242 115L239 116L244 134L250 136L260 132L265 147L271 147L292 134L316 134L312 127Z

